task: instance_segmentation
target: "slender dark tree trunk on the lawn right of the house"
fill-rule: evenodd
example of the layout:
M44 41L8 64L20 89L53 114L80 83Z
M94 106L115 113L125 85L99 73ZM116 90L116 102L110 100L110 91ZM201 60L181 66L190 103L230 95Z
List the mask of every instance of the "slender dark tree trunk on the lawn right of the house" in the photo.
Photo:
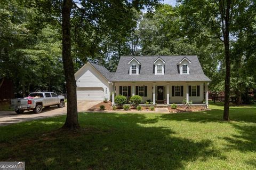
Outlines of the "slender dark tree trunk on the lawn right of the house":
M226 9L225 9L225 4ZM229 97L230 97L230 51L229 51L229 19L230 19L230 4L231 0L222 1L223 3L223 12L225 12L225 27L224 30L224 45L225 45L225 59L226 59L226 78L225 78L225 101L224 101L224 111L223 119L229 120Z

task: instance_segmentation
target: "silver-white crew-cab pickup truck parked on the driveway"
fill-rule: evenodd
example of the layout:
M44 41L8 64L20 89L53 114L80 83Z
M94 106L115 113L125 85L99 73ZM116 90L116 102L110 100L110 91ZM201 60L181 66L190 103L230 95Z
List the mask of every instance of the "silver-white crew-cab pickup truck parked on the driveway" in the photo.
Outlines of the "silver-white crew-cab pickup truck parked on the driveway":
M63 95L57 95L53 92L34 92L27 98L12 99L10 108L13 108L17 114L22 114L25 110L32 110L39 114L43 107L48 108L58 105L59 108L65 107L65 98Z

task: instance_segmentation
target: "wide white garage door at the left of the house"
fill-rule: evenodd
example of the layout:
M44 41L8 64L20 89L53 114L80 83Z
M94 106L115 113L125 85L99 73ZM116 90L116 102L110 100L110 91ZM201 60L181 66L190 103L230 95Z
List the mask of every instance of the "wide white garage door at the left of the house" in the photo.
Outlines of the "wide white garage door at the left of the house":
M102 100L104 92L102 87L77 87L77 100Z

